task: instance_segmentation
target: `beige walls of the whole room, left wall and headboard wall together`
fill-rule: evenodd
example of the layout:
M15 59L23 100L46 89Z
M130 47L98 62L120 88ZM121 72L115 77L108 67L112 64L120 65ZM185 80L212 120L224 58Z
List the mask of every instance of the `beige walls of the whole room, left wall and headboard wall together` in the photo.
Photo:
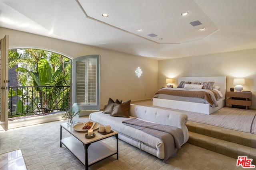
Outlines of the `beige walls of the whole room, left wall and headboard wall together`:
M233 78L246 78L244 90L252 91L251 108L256 108L256 49L156 61L0 27L0 36L6 34L10 48L46 49L70 59L100 54L101 108L109 97L124 101L152 98L156 90L166 87L166 78L174 78L174 87L178 86L179 76L226 76L227 90L234 87ZM140 78L134 73L138 66L143 71Z

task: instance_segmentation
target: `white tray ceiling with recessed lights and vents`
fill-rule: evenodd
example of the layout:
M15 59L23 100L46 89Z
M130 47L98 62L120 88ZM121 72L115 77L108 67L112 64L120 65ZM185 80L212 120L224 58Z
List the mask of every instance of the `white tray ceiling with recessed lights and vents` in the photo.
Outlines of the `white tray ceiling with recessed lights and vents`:
M255 8L256 0L0 0L0 27L171 59L255 49Z

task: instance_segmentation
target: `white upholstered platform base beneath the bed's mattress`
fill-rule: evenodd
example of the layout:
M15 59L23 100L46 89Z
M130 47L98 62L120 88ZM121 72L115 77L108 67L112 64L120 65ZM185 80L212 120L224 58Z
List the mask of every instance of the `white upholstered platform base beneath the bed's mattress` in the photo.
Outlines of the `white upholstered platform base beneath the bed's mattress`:
M192 111L192 112L204 113L208 115L210 115L214 111L217 111L218 109L221 109L225 105L226 105L225 100L218 100L218 107L212 108L210 104L153 98L153 106Z

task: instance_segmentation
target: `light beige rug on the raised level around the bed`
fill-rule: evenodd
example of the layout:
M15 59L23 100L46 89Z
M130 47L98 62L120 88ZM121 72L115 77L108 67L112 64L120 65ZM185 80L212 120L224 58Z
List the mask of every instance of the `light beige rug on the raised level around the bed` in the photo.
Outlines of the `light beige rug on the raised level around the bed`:
M153 106L152 101L139 102L135 104L185 113L188 115L189 121L256 134L256 110L252 109L246 110L223 107L210 115L206 115L203 113Z

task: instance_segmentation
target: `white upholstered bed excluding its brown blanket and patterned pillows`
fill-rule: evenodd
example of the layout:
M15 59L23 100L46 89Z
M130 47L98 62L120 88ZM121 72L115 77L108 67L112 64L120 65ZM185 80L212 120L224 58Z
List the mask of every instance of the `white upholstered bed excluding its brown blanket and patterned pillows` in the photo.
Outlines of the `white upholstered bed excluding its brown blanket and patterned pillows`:
M180 109L204 114L211 114L226 106L226 76L180 77L178 78L178 84L180 84L180 82L214 82L213 87L219 87L218 91L221 93L223 97L216 100L216 104L213 105L212 103L209 103L206 100L202 100L199 98L192 99L190 97L183 96L175 97L168 94L156 94L152 98L153 106ZM168 90L168 88L164 88L162 90L165 89ZM171 88L169 89L172 90ZM179 89L173 88L173 90ZM188 90L188 93L190 93L189 91L193 90Z

